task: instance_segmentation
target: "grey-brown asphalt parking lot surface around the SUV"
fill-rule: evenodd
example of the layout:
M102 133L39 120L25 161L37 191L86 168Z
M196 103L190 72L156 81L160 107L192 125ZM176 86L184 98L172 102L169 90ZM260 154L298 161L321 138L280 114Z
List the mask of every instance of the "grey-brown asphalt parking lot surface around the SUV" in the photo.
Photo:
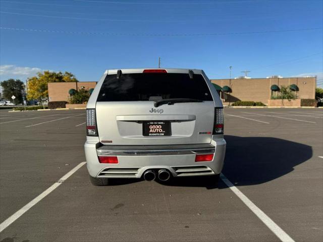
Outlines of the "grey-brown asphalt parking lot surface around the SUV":
M322 241L323 110L225 114L223 174L233 187L210 188L201 177L94 187L81 163L85 110L0 110L1 226L16 214L0 241L280 241L279 228L294 241Z

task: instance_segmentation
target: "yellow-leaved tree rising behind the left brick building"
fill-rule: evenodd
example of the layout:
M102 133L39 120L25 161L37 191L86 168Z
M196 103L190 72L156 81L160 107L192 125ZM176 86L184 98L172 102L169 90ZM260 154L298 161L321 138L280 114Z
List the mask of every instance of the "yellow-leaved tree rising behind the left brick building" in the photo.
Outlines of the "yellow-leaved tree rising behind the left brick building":
M37 76L28 78L28 99L41 100L48 98L48 86L49 82L78 82L75 76L70 72L50 72L44 71L44 73L38 72Z

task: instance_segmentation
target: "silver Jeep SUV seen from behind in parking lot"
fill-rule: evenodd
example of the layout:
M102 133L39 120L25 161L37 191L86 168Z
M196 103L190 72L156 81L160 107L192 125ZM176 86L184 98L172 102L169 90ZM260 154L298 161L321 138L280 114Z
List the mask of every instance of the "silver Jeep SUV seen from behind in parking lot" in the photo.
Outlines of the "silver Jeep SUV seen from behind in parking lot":
M221 99L202 70L107 70L86 109L87 168L110 178L219 179L225 157Z

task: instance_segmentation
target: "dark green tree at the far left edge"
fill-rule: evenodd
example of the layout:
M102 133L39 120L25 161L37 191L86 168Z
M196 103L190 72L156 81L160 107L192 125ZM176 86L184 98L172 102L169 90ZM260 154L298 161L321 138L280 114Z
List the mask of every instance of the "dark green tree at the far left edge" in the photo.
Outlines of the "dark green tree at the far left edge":
M13 100L15 104L23 102L23 93L25 92L24 83L18 79L9 79L0 83L2 87L2 97L8 100L12 100L14 95L16 98Z

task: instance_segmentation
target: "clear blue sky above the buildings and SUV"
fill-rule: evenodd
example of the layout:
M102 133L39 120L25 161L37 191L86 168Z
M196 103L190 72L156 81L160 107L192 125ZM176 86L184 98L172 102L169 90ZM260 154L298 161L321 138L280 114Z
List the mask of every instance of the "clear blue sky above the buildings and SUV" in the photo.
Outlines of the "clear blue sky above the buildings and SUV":
M212 79L232 66L232 77L323 84L323 1L0 0L0 11L1 80L52 70L98 81L106 69L157 67L160 56L161 67Z

